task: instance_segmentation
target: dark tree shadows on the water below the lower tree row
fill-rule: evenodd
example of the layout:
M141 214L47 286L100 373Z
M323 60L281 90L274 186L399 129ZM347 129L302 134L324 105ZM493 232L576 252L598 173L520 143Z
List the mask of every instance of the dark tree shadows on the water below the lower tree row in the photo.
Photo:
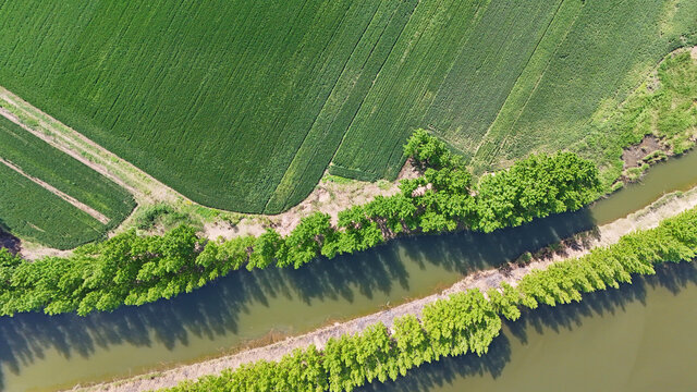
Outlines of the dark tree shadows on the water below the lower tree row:
M658 287L668 289L677 295L687 287L697 286L697 261L684 264L665 264L657 267L657 273L650 277L635 277L633 284L622 284L620 289L609 289L584 295L580 303L557 307L540 306L527 310L517 321L506 321L504 332L494 339L489 352L481 357L467 354L461 357L441 359L433 364L424 364L408 372L406 377L386 383L374 382L358 389L360 392L436 392L443 385L452 385L458 379L481 375L491 375L494 379L501 376L511 362L511 342L518 340L528 342L528 333L554 333L561 330L574 330L583 326L591 317L614 315L623 311L629 304L646 303L650 291ZM551 331L550 331L551 330ZM543 338L542 338L543 339ZM543 381L540 381L543 382ZM543 384L540 384L543 390Z

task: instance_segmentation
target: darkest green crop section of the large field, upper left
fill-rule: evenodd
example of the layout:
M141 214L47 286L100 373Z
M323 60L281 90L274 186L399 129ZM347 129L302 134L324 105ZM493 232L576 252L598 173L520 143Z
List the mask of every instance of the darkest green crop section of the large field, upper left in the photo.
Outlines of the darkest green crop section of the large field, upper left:
M304 184L303 197L311 191L335 150L331 140L339 143L343 130L337 127L337 139L323 126L308 135L310 127L318 115L325 115L322 111L350 111L357 103L352 98L354 78L359 79L358 87L369 87L362 75L365 72L370 81L369 74L377 72L374 63L379 65L386 52L381 37L399 35L409 4L415 1L282 5L75 1L74 9L5 3L3 14L21 14L21 20L29 22L5 24L9 29L27 30L16 35L23 37L20 46L0 44L0 51L11 52L5 72L0 73L9 76L14 65L28 58L35 66L17 71L20 78L0 78L189 198L259 213L284 172L304 175L288 170L304 140L323 140L315 147L327 154L313 159L308 169L315 179ZM29 9L34 10L26 14ZM44 23L44 17L52 23ZM219 28L209 28L211 19ZM52 28L61 29L60 38ZM152 28L169 34L150 34ZM44 51L25 51L46 44L44 33L56 44L48 61ZM82 45L75 45L78 41ZM129 50L130 41L149 44ZM100 57L105 61L96 64L94 58ZM57 66L49 69L47 62ZM133 64L142 65L139 72L127 70ZM83 84L94 76L100 83ZM345 79L337 85L340 96L334 94L328 101L340 76ZM144 83L149 86L147 93L136 87ZM53 88L58 86L62 88ZM346 99L351 102L343 105ZM134 112L134 107L140 109ZM335 113L326 115L328 125L337 120L332 119ZM308 154L315 154L313 148ZM183 164L198 170L172 171Z

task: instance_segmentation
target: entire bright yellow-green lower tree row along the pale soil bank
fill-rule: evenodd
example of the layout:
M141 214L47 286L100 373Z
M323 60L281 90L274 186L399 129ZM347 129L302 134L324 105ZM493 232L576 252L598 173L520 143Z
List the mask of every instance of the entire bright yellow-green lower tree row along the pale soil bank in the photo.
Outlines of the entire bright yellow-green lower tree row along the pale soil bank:
M697 255L697 209L635 232L589 255L536 270L517 286L478 290L427 305L421 320L411 315L391 330L377 323L363 333L331 339L323 351L296 350L280 362L257 362L220 376L186 381L171 392L195 391L352 391L374 380L384 382L411 368L467 352L482 355L501 329L501 318L515 320L521 306L555 306L580 301L582 293L617 287L633 273L655 273L664 261L688 261Z

